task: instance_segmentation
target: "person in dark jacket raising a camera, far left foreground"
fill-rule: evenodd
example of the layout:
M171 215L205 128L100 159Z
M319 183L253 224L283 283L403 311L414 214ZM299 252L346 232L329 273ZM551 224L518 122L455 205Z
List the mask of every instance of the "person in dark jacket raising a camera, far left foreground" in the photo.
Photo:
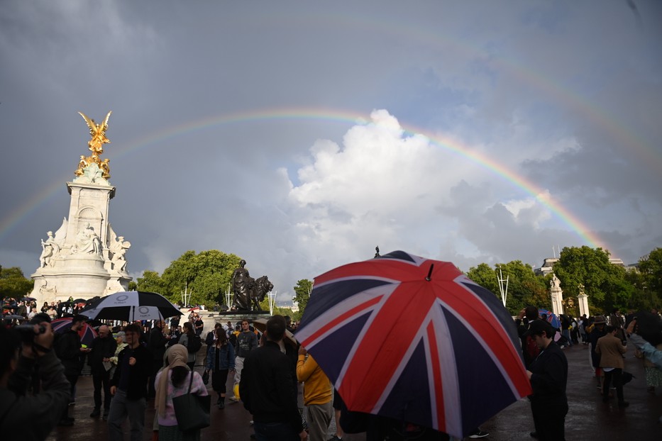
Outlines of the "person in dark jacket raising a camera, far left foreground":
M53 352L50 323L22 325L21 331L23 345L16 330L0 326L0 433L8 440L45 440L67 409L70 385ZM43 387L28 395L35 367Z

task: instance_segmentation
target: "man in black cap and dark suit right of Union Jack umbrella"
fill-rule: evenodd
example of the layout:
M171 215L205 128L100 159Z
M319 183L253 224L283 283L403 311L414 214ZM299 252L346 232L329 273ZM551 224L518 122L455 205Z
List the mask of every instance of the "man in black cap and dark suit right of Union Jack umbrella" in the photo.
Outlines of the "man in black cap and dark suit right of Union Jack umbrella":
M526 371L533 389L529 400L536 427L531 437L541 441L563 441L566 439L568 413L568 359L553 341L556 330L546 321L534 320L526 332L536 340L541 351Z

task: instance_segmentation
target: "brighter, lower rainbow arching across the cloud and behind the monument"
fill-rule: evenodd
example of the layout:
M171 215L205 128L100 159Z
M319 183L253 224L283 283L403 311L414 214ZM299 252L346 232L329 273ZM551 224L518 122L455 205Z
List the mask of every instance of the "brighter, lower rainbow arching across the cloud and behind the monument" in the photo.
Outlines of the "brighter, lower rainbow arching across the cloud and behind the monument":
M165 130L158 130L155 133L145 135L144 137L129 142L126 147L123 147L121 150L117 151L116 157L123 157L130 155L136 150L155 146L163 140L181 137L187 133L192 133L199 130L209 130L221 125L252 123L255 121L292 120L326 122L332 121L343 124L356 125L360 123L368 123L370 118L361 113L321 108L276 108L260 111L221 114L217 116L211 116L209 118L204 118L202 120L189 121L181 125L171 126ZM400 122L400 126L405 135L424 135L431 144L465 157L467 160L470 160L471 162L474 162L483 169L487 170L487 172L496 174L505 181L510 182L519 189L522 189L524 192L530 194L537 201L546 206L546 208L548 208L551 213L554 213L557 218L568 225L568 228L573 230L573 232L582 238L583 242L585 242L587 245L590 247L602 247L605 250L607 249L602 240L600 240L600 238L595 233L592 233L590 228L588 228L587 225L585 225L579 218L575 217L573 213L570 213L568 209L563 207L561 203L558 203L558 201L555 201L551 197L547 196L546 192L534 184L534 182L530 182L526 178L515 174L504 164L500 164L500 162L482 155L480 152L471 150L465 145L459 143L457 140L453 140L452 138L446 137L445 135L429 133L426 130L416 128L413 125L403 124L402 122ZM62 182L65 182L68 179L72 179L72 176L62 177L62 179L58 179L52 185L46 186L43 191L40 191L38 194L34 194L30 199L26 200L21 206L19 206L18 209L13 211L13 213L10 213L9 216L1 219L0 241L3 240L6 235L8 235L11 230L16 227L16 225L18 225L21 219L30 216L30 214L33 213L36 208L38 208L38 206L40 206L44 201L50 199L50 197L52 197L56 191L61 191Z

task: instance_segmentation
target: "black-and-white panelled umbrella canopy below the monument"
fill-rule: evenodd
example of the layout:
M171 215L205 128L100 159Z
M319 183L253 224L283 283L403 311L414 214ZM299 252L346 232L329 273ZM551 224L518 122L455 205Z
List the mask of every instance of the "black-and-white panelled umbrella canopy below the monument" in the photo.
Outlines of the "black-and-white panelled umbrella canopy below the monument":
M145 291L122 291L87 306L80 314L97 320L160 320L181 316L179 309L161 294Z

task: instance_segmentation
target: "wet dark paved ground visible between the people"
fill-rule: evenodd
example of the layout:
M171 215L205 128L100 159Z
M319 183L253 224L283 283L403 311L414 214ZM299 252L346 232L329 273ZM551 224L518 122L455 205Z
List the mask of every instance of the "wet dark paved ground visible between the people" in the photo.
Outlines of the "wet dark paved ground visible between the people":
M566 418L567 440L662 440L662 425L657 423L662 415L662 397L646 392L644 372L641 362L633 356L629 347L625 360L626 370L636 376L625 386L625 399L630 406L619 409L615 398L610 403L602 403L597 382L592 378L588 367L588 347L575 345L566 349L570 378L568 398L570 411ZM201 351L202 352L202 351ZM202 365L202 360L199 360ZM198 368L202 371L202 367ZM228 385L229 382L228 380ZM92 412L92 379L82 376L78 381L76 405L70 407L70 416L76 418L70 428L56 428L48 440L106 440L105 421L89 418ZM229 389L228 389L229 390ZM213 392L212 392L213 393ZM489 393L489 391L485 391ZM215 401L215 400L212 400ZM228 404L221 411L212 408L211 427L202 431L203 440L231 441L250 439L250 414L241 403ZM153 402L148 406L147 421L154 415ZM485 440L517 441L531 440L529 432L533 430L533 420L529 403L526 399L512 404L492 419L481 425L482 430L490 432ZM330 433L333 428L330 428ZM128 440L128 435L126 436ZM145 430L143 440L151 439L151 432ZM347 441L363 441L363 435L346 435Z

